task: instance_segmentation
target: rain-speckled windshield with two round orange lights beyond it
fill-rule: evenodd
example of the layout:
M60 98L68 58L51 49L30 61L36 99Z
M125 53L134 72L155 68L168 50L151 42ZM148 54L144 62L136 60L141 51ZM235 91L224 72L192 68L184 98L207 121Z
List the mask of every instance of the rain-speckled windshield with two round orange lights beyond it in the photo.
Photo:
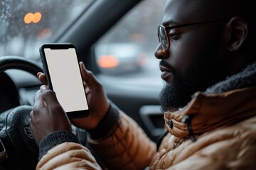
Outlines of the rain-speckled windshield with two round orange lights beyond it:
M94 0L4 0L0 2L0 56L38 60L41 44L55 38Z

